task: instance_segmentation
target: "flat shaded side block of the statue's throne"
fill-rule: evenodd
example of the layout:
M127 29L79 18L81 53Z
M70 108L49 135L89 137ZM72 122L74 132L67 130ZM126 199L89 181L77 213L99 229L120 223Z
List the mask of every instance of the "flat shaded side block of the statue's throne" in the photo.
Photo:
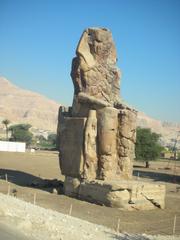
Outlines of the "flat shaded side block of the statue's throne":
M60 132L60 167L62 174L80 177L84 164L84 129L86 118L65 117L61 122Z

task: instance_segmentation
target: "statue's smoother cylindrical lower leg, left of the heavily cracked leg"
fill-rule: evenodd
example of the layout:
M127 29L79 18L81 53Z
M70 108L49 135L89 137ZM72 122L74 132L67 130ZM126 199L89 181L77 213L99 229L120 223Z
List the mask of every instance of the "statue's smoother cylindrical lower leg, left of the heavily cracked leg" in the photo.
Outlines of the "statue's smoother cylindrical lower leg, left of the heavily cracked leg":
M97 111L98 117L98 155L100 179L111 179L117 170L116 135L118 126L118 110L105 107Z

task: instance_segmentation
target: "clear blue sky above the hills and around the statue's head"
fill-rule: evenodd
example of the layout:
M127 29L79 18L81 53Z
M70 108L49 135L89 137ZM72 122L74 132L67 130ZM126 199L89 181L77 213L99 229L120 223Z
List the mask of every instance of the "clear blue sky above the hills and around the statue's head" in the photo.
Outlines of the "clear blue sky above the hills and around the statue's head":
M180 0L0 0L0 75L71 105L71 61L87 27L112 31L124 100L180 122Z

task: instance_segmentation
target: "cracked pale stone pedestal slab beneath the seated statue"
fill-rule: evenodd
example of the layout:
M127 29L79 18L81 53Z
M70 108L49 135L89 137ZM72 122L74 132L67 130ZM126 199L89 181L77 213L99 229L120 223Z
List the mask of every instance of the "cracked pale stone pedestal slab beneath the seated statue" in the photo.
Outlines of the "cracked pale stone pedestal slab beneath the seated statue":
M125 210L165 208L165 185L134 180L83 181L66 177L64 193L88 202Z

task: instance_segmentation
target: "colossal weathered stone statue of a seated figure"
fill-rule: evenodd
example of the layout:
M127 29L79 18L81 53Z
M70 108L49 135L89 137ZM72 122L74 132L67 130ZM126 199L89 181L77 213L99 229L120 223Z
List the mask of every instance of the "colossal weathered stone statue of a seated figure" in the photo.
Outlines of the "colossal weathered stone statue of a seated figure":
M86 29L72 62L73 104L60 108L57 133L65 194L122 207L132 200L137 112L119 96L116 62L111 32Z

